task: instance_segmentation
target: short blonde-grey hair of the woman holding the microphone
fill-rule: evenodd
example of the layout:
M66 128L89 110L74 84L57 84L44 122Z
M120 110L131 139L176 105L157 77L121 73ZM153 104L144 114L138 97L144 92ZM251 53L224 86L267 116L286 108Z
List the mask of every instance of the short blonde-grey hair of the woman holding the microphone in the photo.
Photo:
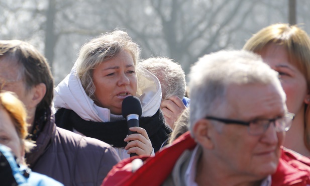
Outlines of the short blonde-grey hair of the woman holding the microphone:
M108 61L118 56L120 51L131 54L136 66L140 58L140 47L133 42L128 34L121 30L102 34L100 37L90 40L80 49L76 60L76 73L81 80L82 86L91 99L95 99L93 94L95 86L92 81L93 69L101 62Z

